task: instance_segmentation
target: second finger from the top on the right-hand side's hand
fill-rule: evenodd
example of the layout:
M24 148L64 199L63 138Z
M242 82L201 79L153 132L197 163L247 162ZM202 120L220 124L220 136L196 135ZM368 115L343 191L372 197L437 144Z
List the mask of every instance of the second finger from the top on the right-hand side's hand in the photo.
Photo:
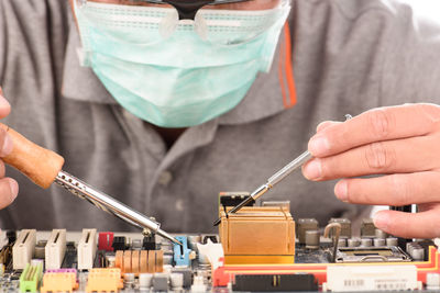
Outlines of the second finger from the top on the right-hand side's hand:
M342 154L308 161L302 173L309 180L329 180L384 173L407 173L435 170L439 137L419 136L374 143Z

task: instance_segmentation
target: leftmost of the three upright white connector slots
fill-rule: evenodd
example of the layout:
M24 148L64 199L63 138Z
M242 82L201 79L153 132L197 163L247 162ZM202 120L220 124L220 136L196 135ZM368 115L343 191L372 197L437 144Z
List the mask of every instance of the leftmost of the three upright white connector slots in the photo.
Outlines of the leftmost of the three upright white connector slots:
M19 238L12 247L12 267L14 270L23 270L34 255L36 244L35 229L22 229Z

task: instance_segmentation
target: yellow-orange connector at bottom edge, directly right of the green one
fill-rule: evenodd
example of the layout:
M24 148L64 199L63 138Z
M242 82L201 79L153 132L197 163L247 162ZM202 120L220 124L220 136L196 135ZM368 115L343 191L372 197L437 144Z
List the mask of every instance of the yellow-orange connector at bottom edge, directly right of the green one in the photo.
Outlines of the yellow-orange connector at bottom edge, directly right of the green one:
M46 292L70 292L78 289L76 273L74 272L46 272L43 275L41 293Z

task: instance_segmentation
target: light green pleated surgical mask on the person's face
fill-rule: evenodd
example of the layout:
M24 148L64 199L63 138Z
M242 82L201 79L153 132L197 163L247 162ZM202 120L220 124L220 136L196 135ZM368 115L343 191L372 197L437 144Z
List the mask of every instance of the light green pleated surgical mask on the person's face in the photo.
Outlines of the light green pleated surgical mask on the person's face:
M82 64L129 112L162 127L212 120L241 102L271 68L289 12L75 4Z

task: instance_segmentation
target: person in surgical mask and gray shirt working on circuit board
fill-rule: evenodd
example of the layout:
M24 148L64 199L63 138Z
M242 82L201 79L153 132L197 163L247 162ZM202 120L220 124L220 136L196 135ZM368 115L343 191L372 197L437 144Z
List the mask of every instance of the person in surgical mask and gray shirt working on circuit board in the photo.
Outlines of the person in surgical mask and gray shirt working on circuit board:
M252 191L308 148L309 180L295 172L265 200L289 200L294 218L321 225L356 221L371 204L419 204L375 224L439 236L439 25L391 0L288 7L251 0L191 19L144 1L0 0L11 105L2 99L0 116L167 232L215 232L220 191ZM11 150L4 132L0 145ZM7 172L1 205L18 193L10 178L21 195L0 212L3 228L129 229Z

